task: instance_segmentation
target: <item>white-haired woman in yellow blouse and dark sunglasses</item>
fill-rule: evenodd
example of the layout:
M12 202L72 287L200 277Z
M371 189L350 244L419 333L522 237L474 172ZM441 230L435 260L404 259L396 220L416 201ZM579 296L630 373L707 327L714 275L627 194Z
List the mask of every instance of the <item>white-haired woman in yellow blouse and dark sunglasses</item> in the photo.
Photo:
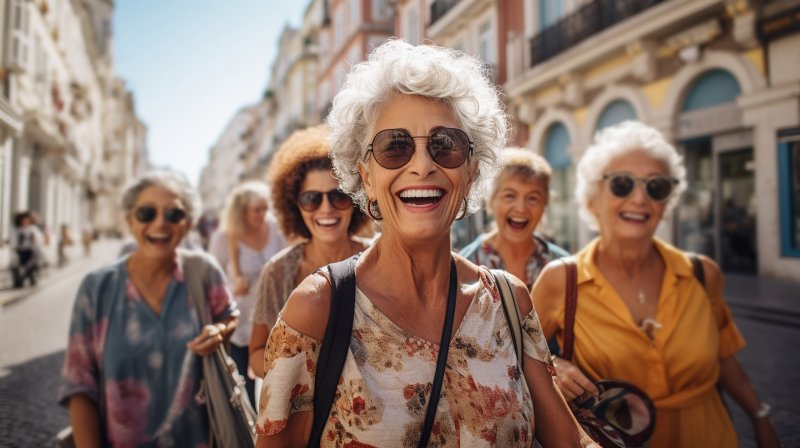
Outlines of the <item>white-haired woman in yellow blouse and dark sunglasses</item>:
M744 346L722 297L722 274L701 257L706 285L679 249L654 237L686 188L681 157L655 129L625 122L597 135L578 165L581 216L599 237L575 256L574 355L556 359L567 399L614 378L656 406L650 447L733 447L719 384L751 416L759 447L780 446L735 353ZM545 268L532 296L547 338L563 344L566 268Z

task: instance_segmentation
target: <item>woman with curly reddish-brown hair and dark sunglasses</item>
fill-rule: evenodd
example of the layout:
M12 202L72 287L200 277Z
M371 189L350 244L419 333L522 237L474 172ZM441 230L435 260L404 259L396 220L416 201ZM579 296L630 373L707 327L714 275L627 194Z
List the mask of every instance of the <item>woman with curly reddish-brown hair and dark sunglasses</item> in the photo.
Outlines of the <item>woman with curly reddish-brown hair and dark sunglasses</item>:
M274 212L283 234L300 239L264 266L250 339L250 367L264 376L264 346L286 299L309 274L366 249L367 219L333 177L327 126L292 134L270 165Z

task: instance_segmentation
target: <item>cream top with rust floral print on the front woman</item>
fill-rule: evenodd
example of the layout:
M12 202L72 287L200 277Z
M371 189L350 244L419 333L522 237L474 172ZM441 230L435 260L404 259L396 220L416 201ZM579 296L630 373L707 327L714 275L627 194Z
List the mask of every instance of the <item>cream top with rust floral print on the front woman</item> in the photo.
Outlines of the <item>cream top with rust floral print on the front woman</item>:
M525 354L549 363L539 319L523 321ZM320 342L278 319L265 353L257 431L276 434L314 406ZM439 347L406 333L356 292L353 333L322 436L325 447L414 447L420 438ZM531 446L533 403L491 274L450 343L432 447Z

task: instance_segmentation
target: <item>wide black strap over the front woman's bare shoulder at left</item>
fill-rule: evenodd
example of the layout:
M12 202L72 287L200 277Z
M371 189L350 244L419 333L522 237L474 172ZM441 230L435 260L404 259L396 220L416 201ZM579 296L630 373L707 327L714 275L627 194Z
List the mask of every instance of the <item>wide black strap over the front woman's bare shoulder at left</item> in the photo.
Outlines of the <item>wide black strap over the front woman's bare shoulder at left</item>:
M322 431L336 396L336 387L342 375L353 331L356 303L355 257L328 265L328 271L332 287L331 310L317 358L317 373L314 377L314 423L311 426L309 447L318 447L322 439Z

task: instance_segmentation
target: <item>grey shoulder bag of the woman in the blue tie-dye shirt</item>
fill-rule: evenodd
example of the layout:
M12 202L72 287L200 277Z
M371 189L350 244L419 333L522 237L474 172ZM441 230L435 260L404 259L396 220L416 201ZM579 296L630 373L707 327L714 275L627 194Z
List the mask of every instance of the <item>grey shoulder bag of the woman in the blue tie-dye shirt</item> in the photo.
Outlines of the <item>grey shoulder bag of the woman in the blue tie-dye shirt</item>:
M208 273L205 257L198 253L182 254L186 284L197 307L197 316L203 326L211 325L204 287ZM228 356L223 344L214 353L202 356L201 362L203 380L200 396L204 398L208 411L209 446L254 447L257 414L247 397L244 378L239 375L236 363Z

